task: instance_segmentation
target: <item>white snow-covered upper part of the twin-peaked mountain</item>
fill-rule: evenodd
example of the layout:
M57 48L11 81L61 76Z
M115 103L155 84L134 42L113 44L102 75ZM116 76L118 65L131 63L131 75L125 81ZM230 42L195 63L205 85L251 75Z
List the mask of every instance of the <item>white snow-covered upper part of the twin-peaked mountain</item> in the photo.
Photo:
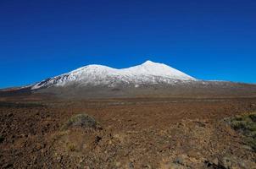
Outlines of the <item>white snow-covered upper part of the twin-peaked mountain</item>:
M109 68L102 65L88 65L77 68L67 74L45 79L42 82L33 85L32 90L38 90L47 87L59 86L97 86L107 85L114 87L116 85L157 85L173 84L177 81L188 82L197 79L171 68L163 63L153 63L147 61L141 65L131 68Z

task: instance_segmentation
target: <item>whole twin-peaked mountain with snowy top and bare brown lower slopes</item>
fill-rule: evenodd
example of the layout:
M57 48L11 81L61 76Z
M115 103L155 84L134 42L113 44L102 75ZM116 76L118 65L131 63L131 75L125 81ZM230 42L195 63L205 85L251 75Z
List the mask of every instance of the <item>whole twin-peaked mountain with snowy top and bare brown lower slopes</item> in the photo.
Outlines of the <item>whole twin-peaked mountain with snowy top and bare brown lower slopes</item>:
M251 97L256 96L256 85L203 81L163 63L147 61L121 69L92 64L36 85L0 90L0 96L34 94L63 98Z

